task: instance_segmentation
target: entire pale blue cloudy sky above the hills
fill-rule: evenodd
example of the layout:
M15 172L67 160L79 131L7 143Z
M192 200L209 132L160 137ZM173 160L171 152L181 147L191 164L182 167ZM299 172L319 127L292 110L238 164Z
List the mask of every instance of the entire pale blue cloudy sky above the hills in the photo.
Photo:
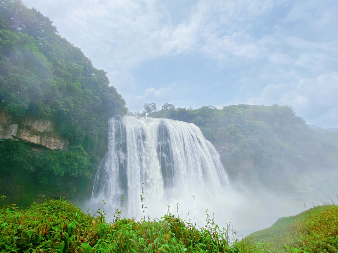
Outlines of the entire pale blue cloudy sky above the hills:
M130 111L289 105L338 127L338 2L23 0L108 73Z

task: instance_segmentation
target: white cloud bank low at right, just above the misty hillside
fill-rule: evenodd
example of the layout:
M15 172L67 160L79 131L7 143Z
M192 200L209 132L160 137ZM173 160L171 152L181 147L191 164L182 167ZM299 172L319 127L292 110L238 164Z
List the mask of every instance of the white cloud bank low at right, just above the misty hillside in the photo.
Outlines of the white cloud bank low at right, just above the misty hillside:
M297 83L267 85L260 96L248 99L248 104L274 103L292 105L310 123L335 127L338 122L338 72L304 78ZM317 111L318 114L313 114Z

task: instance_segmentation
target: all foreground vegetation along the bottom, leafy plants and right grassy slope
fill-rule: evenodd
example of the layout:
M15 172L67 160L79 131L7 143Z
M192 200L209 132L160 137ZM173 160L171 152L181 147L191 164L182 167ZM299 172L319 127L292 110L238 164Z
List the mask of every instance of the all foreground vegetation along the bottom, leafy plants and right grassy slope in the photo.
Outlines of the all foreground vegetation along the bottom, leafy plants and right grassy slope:
M113 222L104 210L84 214L64 200L0 208L1 252L329 252L338 251L338 206L324 205L279 219L272 227L230 245L231 233L207 216L196 229L170 213L160 220Z

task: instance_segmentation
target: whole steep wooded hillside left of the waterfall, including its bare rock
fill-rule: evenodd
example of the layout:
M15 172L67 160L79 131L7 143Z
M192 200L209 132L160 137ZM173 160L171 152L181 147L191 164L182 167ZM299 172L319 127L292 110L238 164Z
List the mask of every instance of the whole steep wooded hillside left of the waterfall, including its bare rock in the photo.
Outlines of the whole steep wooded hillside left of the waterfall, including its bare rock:
M126 112L106 73L47 17L20 0L0 2L0 192L8 202L78 194L107 150L108 118Z

